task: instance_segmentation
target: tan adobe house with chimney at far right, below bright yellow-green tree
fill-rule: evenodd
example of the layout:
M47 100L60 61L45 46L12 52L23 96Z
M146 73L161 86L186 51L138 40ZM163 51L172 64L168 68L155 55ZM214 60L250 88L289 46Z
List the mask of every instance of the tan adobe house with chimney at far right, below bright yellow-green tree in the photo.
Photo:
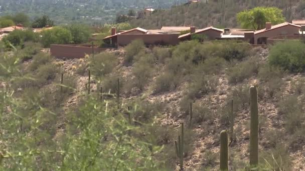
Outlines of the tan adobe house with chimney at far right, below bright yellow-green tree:
M256 31L246 31L244 33L244 40L254 44L266 44L268 38L285 35L300 35L300 25L283 22L280 24L272 25L266 22L264 29Z

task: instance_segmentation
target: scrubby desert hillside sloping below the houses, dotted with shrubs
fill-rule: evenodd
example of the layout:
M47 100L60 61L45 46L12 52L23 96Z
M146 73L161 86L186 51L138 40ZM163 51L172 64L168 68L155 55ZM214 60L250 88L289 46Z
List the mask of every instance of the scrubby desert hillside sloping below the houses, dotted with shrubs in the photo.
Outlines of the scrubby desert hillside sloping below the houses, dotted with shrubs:
M303 170L303 46L187 41L148 48L133 41L81 59L55 59L35 43L3 52L0 167L114 170L129 160L137 167L120 170L179 170L175 140L184 122L184 168L219 170L219 135L233 116L229 170L243 170L249 87L257 84L261 167Z

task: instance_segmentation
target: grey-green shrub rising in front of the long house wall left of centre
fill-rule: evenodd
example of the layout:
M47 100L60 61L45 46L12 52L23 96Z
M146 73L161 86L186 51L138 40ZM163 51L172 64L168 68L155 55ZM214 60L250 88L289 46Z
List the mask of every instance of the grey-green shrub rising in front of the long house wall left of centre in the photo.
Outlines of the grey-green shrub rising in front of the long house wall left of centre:
M127 65L132 63L134 56L136 56L144 48L145 46L142 40L133 40L131 43L126 45L124 63Z

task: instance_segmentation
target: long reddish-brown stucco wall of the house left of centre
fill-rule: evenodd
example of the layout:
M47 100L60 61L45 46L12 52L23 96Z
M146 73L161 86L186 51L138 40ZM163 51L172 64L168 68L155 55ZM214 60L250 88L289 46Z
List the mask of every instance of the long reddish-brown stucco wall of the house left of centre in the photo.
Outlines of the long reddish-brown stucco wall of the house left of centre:
M141 39L145 44L175 45L179 43L178 34L118 34L117 44L124 46L135 39Z

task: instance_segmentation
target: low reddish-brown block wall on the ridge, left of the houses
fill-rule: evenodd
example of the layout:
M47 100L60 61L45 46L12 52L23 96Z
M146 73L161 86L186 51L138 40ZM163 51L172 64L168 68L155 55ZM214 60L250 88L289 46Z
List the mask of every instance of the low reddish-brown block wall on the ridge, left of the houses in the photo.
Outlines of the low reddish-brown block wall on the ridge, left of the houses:
M107 48L93 47L94 53L100 53ZM92 53L89 44L51 44L50 53L56 58L82 58Z

